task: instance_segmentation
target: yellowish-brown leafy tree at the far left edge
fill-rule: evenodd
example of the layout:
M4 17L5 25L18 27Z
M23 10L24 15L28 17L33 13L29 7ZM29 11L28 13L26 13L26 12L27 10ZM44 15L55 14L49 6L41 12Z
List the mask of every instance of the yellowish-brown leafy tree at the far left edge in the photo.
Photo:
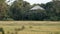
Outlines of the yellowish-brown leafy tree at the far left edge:
M3 20L7 16L7 4L6 0L0 0L0 20Z

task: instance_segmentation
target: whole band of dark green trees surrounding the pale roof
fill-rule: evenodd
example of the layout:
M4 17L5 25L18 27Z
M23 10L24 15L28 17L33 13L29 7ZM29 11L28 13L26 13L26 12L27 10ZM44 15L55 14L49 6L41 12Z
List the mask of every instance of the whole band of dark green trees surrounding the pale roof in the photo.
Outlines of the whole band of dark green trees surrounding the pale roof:
M18 0L14 1L11 6L7 5L5 1L0 0L0 20L60 20L60 1L30 5L29 2ZM45 10L31 11L30 9L35 5L39 5Z

